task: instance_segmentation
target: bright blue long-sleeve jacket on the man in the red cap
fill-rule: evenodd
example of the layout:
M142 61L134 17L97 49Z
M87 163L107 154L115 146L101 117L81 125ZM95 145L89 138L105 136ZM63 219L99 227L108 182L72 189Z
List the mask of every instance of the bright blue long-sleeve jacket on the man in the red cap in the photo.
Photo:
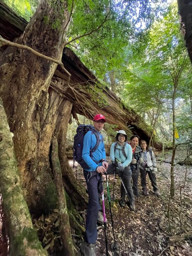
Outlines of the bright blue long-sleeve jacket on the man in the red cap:
M105 145L103 142L103 137L100 132L98 132L100 137L100 143L98 148L95 152L93 152L93 159L90 157L90 150L94 148L96 145L96 136L93 134L92 131L88 131L84 138L83 138L83 151L82 151L82 158L87 163L87 165L90 167L90 169L85 169L87 171L95 171L97 166L102 166L102 163L95 163L95 161L100 161L102 159L106 159L106 153L105 153Z

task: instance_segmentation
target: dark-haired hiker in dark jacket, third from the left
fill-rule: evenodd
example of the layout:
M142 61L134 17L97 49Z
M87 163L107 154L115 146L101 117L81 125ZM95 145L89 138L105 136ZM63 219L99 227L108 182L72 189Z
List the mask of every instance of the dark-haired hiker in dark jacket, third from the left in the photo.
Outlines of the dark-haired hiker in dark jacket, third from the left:
M133 192L135 196L139 196L139 190L138 190L138 178L140 175L140 169L139 169L139 159L141 157L141 148L138 145L139 144L140 137L138 135L133 135L130 138L130 145L133 152L133 157L131 160L131 172L132 172L132 180L133 180Z

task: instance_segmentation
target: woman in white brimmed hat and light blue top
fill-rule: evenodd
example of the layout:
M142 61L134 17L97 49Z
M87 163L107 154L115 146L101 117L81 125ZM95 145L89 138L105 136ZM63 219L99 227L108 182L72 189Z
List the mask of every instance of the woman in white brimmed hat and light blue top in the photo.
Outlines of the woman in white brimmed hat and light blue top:
M111 145L110 157L112 160L112 164L108 166L108 174L112 174L112 170L114 172L114 168L119 172L120 177L122 178L122 182L125 186L125 189L128 193L129 208L134 211L134 194L131 185L131 168L130 163L132 160L132 149L131 146L127 143L127 134L125 131L120 130L116 134L116 142ZM119 204L121 207L125 207L125 189L121 186L121 199Z

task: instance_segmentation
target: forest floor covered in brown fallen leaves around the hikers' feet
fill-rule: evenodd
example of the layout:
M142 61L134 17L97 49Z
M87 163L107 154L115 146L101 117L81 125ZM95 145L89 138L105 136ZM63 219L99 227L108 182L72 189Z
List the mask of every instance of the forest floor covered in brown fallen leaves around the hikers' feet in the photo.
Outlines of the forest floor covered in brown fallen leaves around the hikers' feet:
M157 185L161 196L154 195L149 178L147 187L149 196L140 196L135 200L136 213L129 207L119 206L119 178L115 181L114 204L112 209L113 225L117 249L113 250L114 239L111 225L110 208L107 198L106 185L104 185L105 207L107 222L107 239L109 256L192 256L192 166L187 167L185 187L183 186L186 166L175 167L175 198L170 200L170 163L160 161L160 153L157 157ZM176 161L184 156L184 151L179 151ZM166 151L164 160L171 161L172 152ZM74 175L86 186L81 168L74 169ZM148 177L148 176L147 176ZM113 176L108 178L110 195L113 198ZM105 184L105 180L104 180ZM140 184L140 180L138 182ZM141 186L139 185L140 194ZM111 201L112 205L112 201ZM181 209L182 206L182 209ZM170 217L168 218L168 207ZM181 212L180 212L181 210ZM86 211L82 213L86 218ZM169 224L170 223L170 224ZM182 225L181 225L182 223ZM171 231L169 226L171 226ZM105 256L105 232L104 225L98 226L98 239L96 241L96 256ZM190 234L187 238L184 235ZM80 246L81 241L76 241ZM80 254L78 254L80 255Z

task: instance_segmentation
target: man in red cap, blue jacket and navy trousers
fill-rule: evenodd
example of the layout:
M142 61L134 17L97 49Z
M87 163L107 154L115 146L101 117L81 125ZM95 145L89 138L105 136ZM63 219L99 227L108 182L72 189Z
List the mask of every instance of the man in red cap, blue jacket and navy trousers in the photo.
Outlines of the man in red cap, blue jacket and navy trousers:
M93 118L93 125L99 134L100 142L96 151L93 152L92 157L90 151L96 145L96 136L92 131L88 131L83 140L82 158L90 167L84 169L84 177L87 183L87 191L89 195L87 218L85 224L86 241L81 244L81 253L84 256L96 256L94 245L97 239L97 220L101 205L99 198L101 191L100 174L105 174L108 163L106 162L105 145L101 131L105 125L105 116L97 114ZM101 212L100 212L101 215Z

